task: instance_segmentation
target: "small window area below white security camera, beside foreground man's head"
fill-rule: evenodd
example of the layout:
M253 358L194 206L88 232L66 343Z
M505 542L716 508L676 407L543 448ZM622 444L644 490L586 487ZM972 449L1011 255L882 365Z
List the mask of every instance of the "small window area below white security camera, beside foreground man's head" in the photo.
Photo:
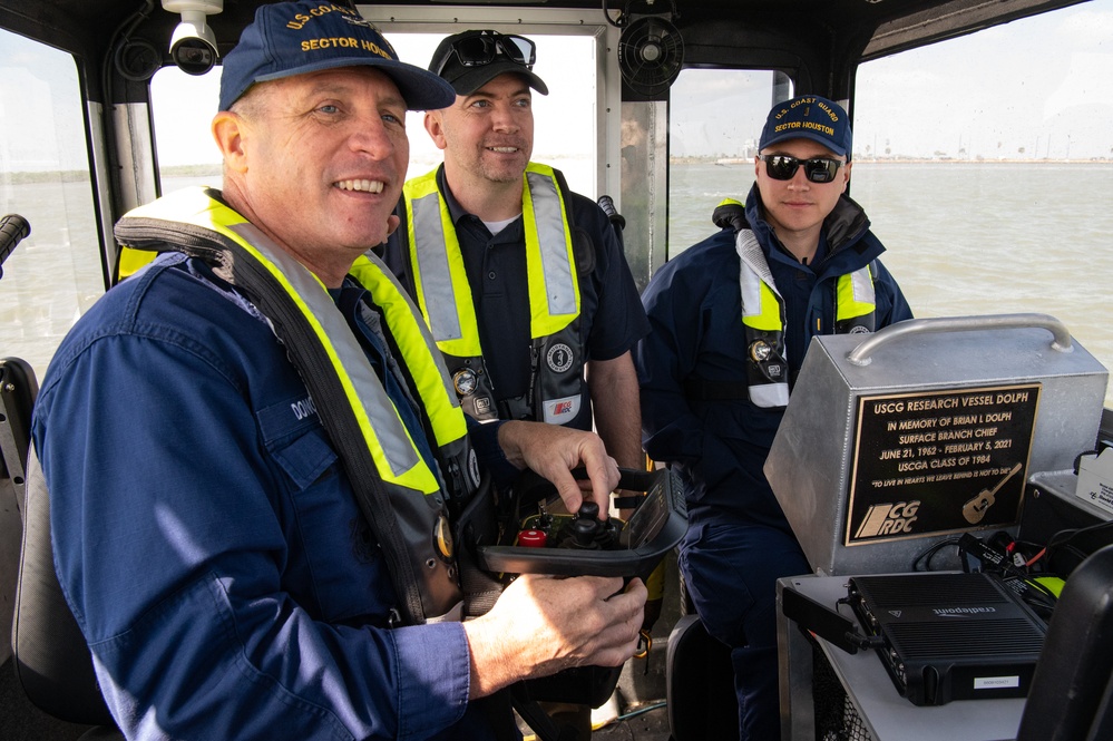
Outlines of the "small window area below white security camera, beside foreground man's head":
M163 67L150 78L150 117L163 194L191 185L221 187L221 150L209 126L219 98L219 66L199 76Z

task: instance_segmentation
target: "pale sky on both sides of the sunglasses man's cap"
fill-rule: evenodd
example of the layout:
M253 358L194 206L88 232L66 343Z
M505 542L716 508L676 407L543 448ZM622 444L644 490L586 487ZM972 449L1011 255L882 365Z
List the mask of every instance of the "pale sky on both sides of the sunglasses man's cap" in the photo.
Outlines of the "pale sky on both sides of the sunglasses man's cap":
M683 71L671 92L671 154L752 146L770 84L768 74ZM856 85L859 155L868 146L909 157L1113 157L1113 0L878 59Z

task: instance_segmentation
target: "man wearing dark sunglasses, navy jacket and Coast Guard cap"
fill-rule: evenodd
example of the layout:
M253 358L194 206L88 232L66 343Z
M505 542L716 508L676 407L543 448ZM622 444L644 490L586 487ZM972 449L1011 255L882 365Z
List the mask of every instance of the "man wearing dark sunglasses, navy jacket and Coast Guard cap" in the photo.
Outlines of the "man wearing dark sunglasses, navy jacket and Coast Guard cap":
M846 195L850 156L838 104L778 104L745 205L720 204L722 231L643 294L643 441L685 481L678 565L709 633L731 646L742 739L780 738L774 584L811 572L762 470L808 343L911 318Z

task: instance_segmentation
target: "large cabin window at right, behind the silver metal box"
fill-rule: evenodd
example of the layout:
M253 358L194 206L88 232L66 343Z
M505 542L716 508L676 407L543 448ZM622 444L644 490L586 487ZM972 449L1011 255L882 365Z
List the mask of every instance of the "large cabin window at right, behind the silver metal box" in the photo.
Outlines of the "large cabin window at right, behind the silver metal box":
M856 89L850 187L916 315L1051 314L1113 368L1113 0L867 62Z

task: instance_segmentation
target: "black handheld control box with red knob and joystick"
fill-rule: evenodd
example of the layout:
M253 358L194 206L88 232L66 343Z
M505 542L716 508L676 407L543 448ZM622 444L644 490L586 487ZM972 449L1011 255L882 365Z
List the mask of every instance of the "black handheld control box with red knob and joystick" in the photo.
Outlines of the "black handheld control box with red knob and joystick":
M476 548L480 567L499 574L637 576L644 581L684 537L684 493L676 475L666 468L619 472L618 488L646 493L629 521L608 526L611 520L601 523L598 509L589 508L575 516L531 515L521 520L512 545ZM543 532L544 545L524 545L521 536L530 532Z

